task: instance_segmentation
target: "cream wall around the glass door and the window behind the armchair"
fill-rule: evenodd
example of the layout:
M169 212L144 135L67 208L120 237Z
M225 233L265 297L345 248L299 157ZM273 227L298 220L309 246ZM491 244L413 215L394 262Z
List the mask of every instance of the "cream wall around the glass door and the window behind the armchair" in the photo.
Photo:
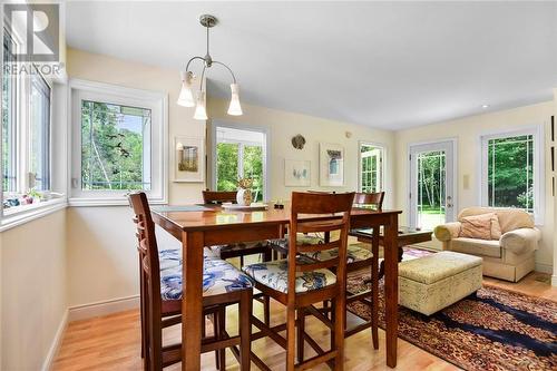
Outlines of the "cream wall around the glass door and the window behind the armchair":
M545 185L546 209L543 232L543 241L539 251L536 252L536 269L544 272L551 272L554 256L554 207L551 197L551 173L549 156L549 119L554 113L553 101L541 102L515 109L501 110L491 114L471 116L462 119L421 126L418 128L400 130L395 134L397 162L395 169L395 195L397 208L404 211L401 223L407 223L408 216L408 194L409 194L409 160L408 146L412 143L431 141L437 139L458 139L458 209L479 204L479 176L480 160L478 154L481 153L480 136L483 134L512 130L531 125L544 125L545 130ZM463 176L468 175L469 188L463 187ZM438 245L439 246L439 245Z

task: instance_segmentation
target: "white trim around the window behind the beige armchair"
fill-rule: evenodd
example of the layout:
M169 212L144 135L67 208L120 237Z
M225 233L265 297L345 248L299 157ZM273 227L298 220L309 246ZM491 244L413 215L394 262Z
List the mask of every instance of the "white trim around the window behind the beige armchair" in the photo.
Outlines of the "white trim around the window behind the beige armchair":
M545 219L545 140L544 140L544 125L531 125L526 127L520 127L511 130L500 130L483 133L480 135L481 144L481 166L479 168L480 179L479 184L479 202L480 205L489 206L489 195L488 195L488 141L490 139L506 138L512 136L534 136L534 221L536 225L544 225Z

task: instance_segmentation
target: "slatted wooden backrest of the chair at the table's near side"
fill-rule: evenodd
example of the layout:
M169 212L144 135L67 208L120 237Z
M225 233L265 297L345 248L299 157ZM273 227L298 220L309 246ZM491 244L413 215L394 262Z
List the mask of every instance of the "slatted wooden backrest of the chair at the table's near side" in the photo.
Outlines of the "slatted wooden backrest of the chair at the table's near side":
M350 211L354 193L292 193L290 233L289 233L289 296L295 294L295 277L297 272L309 272L320 269L333 269L336 272L336 284L344 287L346 272L346 242L350 228ZM330 218L320 221L300 219L300 215L330 215ZM331 233L339 231L339 238L323 244L299 245L297 233ZM296 256L300 253L312 253L330 248L338 248L336 257L311 264L299 264Z

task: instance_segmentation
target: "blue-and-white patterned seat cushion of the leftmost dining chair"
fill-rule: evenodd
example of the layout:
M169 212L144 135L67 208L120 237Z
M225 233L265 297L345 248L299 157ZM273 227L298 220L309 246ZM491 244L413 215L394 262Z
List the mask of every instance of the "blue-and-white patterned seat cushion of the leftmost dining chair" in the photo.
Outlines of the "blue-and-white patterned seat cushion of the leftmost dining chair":
M203 296L252 289L250 276L234 265L218 260L205 258L203 265ZM160 295L163 300L182 299L182 264L160 270Z

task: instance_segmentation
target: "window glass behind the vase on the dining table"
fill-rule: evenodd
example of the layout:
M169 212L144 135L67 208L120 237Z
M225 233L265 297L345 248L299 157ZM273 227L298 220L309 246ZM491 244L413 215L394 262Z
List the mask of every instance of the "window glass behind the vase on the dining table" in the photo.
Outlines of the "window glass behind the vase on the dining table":
M217 126L215 139L215 189L235 191L238 178L252 178L253 199L265 199L266 134Z

